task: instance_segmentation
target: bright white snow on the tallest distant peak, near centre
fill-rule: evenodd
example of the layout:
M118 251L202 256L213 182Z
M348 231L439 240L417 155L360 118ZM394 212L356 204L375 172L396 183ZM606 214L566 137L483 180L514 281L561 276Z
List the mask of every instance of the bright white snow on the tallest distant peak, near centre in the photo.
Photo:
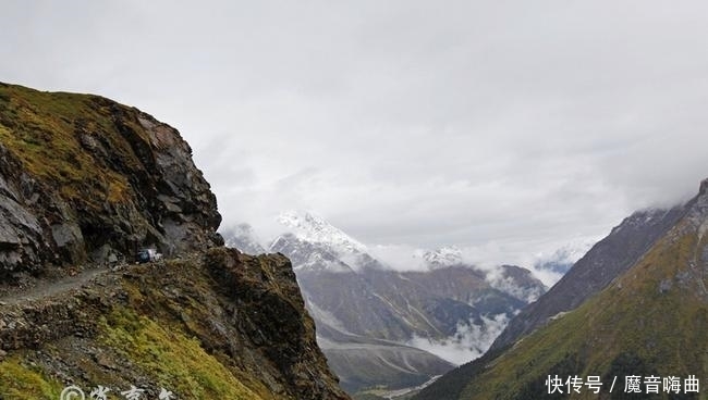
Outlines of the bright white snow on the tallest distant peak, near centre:
M312 212L286 211L278 222L293 229L293 234L305 241L327 245L339 253L365 253L364 243L335 228Z

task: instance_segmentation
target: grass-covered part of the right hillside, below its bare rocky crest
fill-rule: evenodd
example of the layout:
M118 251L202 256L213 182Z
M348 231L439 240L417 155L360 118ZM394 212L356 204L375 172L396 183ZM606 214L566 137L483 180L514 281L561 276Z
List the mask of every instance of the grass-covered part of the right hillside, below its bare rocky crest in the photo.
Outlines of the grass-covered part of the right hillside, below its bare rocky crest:
M699 241L695 233L664 238L601 293L492 361L461 398L538 398L548 374L606 376L611 368L695 374L708 382L708 293L700 260L705 246L706 239ZM672 287L662 292L662 282ZM628 366L622 364L627 358L633 360ZM626 371L631 367L636 371ZM606 389L611 380L603 379ZM584 391L573 398L597 396Z

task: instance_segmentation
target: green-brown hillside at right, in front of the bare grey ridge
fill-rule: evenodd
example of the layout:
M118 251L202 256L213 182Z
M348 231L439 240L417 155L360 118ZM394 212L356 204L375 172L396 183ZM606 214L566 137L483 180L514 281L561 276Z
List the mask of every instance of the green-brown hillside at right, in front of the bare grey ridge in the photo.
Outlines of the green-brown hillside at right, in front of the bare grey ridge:
M624 393L630 375L708 378L708 180L681 217L624 272L575 310L505 350L496 349L422 392L417 399L537 399L548 375L599 376L599 398L698 399L699 392ZM575 268L575 267L574 267ZM610 392L618 377L618 387ZM565 398L567 390L563 390ZM571 398L596 399L583 389Z

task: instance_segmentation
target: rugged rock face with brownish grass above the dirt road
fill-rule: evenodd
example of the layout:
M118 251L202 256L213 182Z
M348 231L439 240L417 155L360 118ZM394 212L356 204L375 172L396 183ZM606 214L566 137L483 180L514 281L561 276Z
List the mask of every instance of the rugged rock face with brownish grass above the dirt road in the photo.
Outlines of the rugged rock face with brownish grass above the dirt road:
M221 216L172 127L85 95L0 84L0 276L220 245Z

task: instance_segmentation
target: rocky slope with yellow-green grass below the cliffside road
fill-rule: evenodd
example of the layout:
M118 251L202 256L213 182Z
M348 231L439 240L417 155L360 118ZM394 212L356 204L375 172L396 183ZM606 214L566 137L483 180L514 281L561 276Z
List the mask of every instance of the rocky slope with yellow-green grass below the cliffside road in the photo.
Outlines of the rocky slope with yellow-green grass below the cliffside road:
M71 384L86 395L135 385L149 398L164 387L180 399L347 399L282 255L215 248L5 300L0 376L39 371L29 389L22 378L1 379L0 393L24 390L9 398L59 398Z

